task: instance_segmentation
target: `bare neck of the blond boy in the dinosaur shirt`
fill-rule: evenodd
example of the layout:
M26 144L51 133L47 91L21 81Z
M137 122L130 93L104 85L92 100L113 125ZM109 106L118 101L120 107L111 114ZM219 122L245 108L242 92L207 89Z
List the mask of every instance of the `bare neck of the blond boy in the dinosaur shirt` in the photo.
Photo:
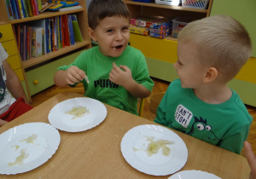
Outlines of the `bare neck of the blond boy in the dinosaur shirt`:
M214 87L209 85L201 89L194 89L194 93L201 101L209 104L221 104L228 101L232 96L232 90L226 84Z

